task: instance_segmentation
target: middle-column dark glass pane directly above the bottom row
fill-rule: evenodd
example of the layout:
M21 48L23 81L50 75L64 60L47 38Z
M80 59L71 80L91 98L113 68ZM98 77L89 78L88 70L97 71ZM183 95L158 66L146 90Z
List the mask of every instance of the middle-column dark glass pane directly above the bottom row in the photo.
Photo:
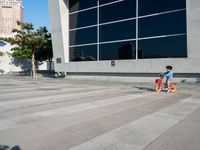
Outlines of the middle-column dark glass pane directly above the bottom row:
M100 26L100 42L135 38L135 20Z

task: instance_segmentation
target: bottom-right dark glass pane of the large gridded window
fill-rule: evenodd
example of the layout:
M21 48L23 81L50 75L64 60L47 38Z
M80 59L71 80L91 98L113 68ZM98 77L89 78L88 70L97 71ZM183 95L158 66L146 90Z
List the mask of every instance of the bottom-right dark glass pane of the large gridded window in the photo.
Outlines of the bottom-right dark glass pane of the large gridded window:
M186 35L139 41L138 58L187 57Z

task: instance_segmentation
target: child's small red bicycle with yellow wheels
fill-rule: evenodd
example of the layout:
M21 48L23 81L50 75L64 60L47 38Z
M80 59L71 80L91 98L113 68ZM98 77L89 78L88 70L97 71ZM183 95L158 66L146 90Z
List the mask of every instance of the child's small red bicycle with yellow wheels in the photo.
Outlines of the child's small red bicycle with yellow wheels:
M160 76L160 79L155 80L155 91L161 92L163 89L168 88L168 92L176 92L176 84L170 83L169 87L166 87L167 85L163 82L163 76Z

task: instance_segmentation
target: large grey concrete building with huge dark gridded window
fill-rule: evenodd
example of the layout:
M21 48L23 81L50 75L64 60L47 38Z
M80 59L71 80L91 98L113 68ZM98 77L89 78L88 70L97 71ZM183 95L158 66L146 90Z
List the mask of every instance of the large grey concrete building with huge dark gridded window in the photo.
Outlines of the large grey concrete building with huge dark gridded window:
M49 12L58 72L200 73L200 0L49 0Z

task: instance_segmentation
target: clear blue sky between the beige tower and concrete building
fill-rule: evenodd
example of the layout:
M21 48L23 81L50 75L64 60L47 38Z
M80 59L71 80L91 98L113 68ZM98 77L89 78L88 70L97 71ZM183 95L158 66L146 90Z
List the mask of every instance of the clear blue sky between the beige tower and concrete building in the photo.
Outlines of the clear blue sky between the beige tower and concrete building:
M37 29L46 26L50 30L48 0L23 0L24 21L32 23Z

